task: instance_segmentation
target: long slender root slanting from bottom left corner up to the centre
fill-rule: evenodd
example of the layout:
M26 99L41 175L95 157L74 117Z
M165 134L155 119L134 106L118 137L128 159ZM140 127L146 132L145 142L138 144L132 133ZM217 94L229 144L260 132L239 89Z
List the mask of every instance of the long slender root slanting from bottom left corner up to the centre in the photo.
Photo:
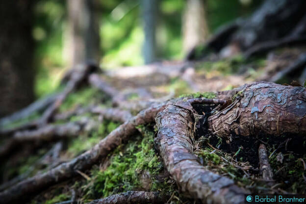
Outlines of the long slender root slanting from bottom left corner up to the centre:
M20 199L29 197L35 193L50 187L51 185L67 180L78 175L78 171L90 168L107 156L122 142L127 141L129 136L136 132L136 126L144 125L154 121L155 115L163 110L169 102L163 102L129 119L127 122L114 129L108 136L102 139L97 145L75 159L60 164L59 166L47 171L44 174L36 175L19 182L15 186L0 193L0 204L17 202Z

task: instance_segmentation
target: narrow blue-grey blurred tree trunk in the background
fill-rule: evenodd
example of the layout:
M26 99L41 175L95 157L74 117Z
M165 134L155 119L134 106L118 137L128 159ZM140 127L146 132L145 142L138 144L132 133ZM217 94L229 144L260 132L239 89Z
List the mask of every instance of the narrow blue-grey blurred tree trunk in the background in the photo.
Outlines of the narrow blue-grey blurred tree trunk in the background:
M152 63L156 57L156 15L158 0L142 0L145 39L143 56L146 64Z

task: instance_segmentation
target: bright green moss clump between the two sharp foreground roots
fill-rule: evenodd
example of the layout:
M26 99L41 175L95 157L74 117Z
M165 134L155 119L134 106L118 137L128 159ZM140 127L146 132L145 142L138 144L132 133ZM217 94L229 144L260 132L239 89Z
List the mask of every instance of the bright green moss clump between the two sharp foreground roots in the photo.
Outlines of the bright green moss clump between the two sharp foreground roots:
M130 141L125 147L120 146L110 158L110 165L100 171L92 170L92 184L86 188L86 198L106 197L128 190L143 189L144 184L150 190L172 192L174 185L169 180L156 180L156 176L164 169L161 158L154 151L154 132L143 126L137 127L143 132L136 141ZM147 175L146 183L142 175ZM87 184L88 186L88 184Z

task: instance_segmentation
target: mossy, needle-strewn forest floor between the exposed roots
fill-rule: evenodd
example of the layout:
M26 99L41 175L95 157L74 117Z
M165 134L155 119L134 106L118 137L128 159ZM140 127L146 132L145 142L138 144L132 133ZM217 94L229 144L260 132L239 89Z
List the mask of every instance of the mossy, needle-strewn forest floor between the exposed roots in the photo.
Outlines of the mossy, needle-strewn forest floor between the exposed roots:
M299 53L301 49L287 48L270 52L267 57L249 60L237 56L231 59L197 61L174 76L152 73L114 77L115 72L124 73L124 70L106 70L101 77L123 93L129 103L140 100L164 101L186 95L194 98L214 98L211 92L231 90L245 83L273 78L290 66ZM291 77L286 75L276 82L290 83L295 78L297 76L294 74L291 74ZM99 89L87 85L69 94L58 113L67 113L90 105L107 108L112 106L112 102L109 96ZM201 111L201 108L198 108L198 111ZM131 113L134 115L137 110ZM40 116L41 113L36 112L23 120L6 125L5 128L20 126ZM64 119L58 118L52 124L82 120L90 122L74 137L39 144L23 144L15 148L9 159L2 158L1 190L4 188L3 184L11 179L27 178L46 172L51 167L84 153L122 123L103 118L99 114L84 112ZM154 144L155 125L142 125L137 129L138 132L132 135L127 143L117 147L91 169L79 172L73 179L51 186L28 203L55 204L72 201L82 204L131 190L160 191L169 196L168 204L198 203L199 201L189 199L179 191L177 184L164 168ZM194 141L194 153L207 169L233 179L236 185L252 193L306 193L305 141L283 137L267 138L264 135L258 135L257 138L232 135L232 141L234 142L229 145L220 137L199 130ZM273 170L274 180L269 182L262 179L259 171L259 143L265 145Z

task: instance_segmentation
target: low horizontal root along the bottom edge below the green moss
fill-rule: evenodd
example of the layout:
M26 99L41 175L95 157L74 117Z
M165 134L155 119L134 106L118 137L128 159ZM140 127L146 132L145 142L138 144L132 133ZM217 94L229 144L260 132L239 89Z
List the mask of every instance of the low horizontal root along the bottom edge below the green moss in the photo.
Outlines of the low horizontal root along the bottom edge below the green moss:
M163 204L168 197L159 192L128 191L92 201L88 204Z

